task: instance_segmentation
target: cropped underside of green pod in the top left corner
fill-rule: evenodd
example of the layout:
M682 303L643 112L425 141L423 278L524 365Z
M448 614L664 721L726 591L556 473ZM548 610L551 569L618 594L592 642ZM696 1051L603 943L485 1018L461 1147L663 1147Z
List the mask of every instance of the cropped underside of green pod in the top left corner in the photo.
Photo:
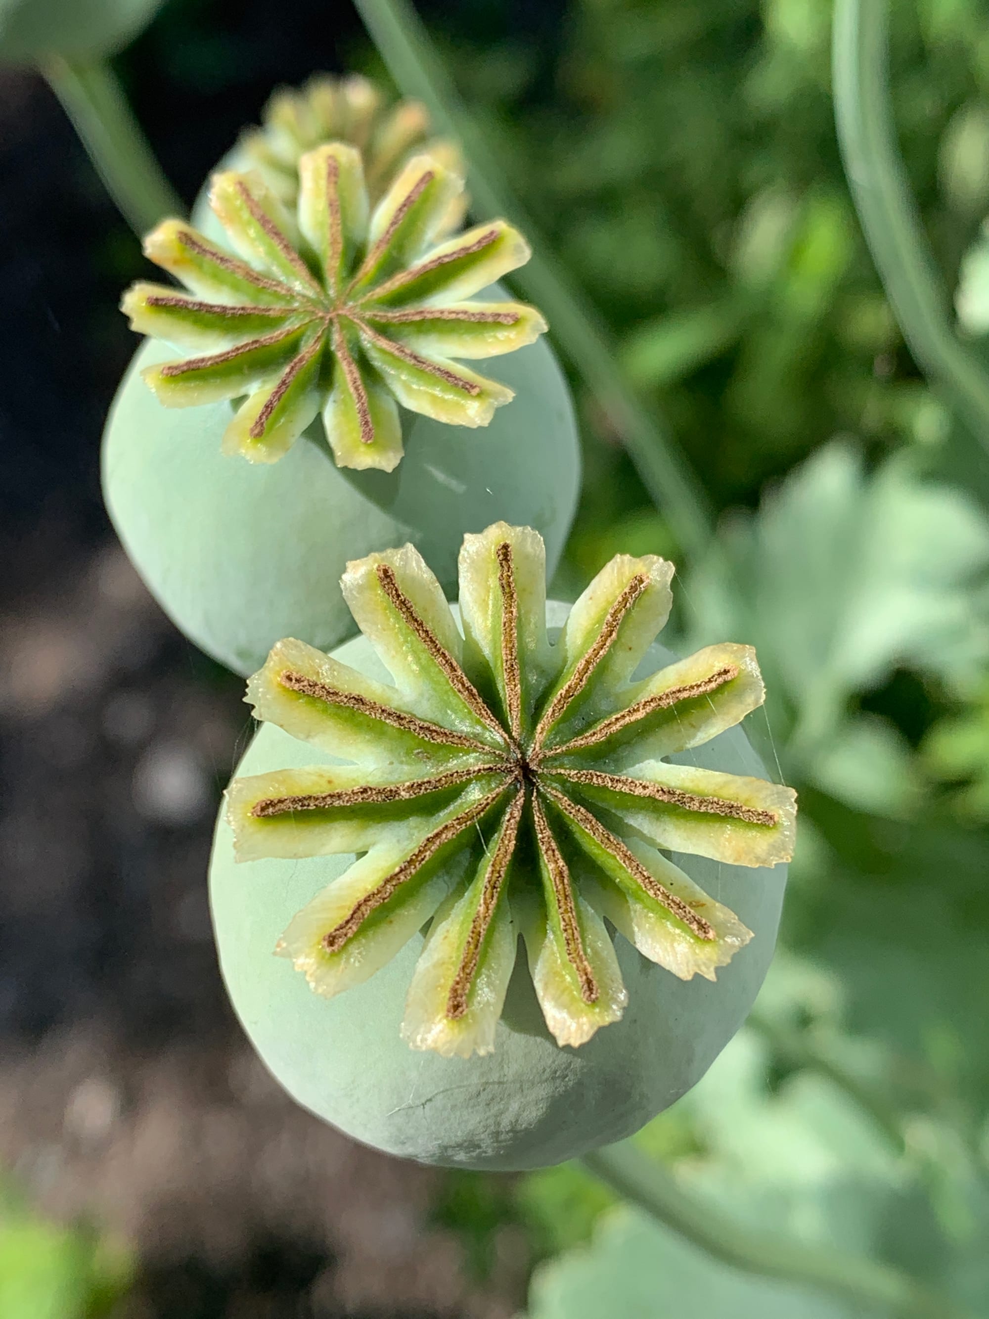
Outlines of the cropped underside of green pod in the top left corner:
M150 22L162 0L0 0L0 61L109 55Z

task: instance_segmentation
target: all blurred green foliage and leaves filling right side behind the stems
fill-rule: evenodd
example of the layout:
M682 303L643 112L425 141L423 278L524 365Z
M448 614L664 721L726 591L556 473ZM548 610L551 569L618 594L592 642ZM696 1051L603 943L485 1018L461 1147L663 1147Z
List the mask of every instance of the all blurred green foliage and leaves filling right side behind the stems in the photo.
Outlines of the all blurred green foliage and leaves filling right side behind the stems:
M919 0L893 17L911 187L945 289L961 268L963 330L981 336L989 12ZM770 700L750 736L802 793L757 1012L637 1146L753 1228L989 1314L989 483L860 235L829 28L819 0L571 0L549 71L508 38L448 53L723 509L674 627L683 646L757 646ZM620 550L676 554L613 423L583 405L559 592ZM712 1262L574 1166L522 1178L502 1204L546 1261L531 1319L864 1312Z

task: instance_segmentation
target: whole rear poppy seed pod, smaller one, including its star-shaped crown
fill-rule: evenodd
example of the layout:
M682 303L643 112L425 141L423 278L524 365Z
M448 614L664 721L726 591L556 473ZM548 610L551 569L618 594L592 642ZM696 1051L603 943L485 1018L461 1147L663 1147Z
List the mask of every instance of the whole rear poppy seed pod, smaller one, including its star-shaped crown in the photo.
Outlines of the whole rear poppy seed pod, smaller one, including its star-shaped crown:
M316 247L327 240L322 256L258 177L236 170L215 178L216 214L203 198L195 228L152 235L152 255L191 291L137 285L125 309L140 328L212 352L174 360L146 343L103 441L104 499L132 562L186 636L243 674L280 637L330 649L352 633L338 583L355 555L407 539L455 594L462 537L505 516L545 537L555 568L580 484L566 380L531 342L538 313L497 285L469 301L479 280L526 259L521 237L497 223L436 243L460 183L414 157L369 220L351 216L360 241L338 249L336 203L364 214L359 157L326 146L303 160L299 215ZM367 278L388 282L381 305L373 290L347 294L368 261ZM338 307L338 294L351 302ZM444 351L497 355L498 380Z

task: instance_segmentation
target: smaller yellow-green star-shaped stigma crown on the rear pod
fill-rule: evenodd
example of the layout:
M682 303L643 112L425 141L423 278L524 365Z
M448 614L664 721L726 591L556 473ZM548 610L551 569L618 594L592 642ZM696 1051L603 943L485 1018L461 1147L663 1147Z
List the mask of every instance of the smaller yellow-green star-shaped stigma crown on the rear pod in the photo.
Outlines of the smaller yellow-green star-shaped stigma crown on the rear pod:
M504 220L440 240L463 182L429 156L410 160L373 212L360 152L342 142L299 161L298 220L258 174L214 177L224 251L181 220L145 241L189 293L137 284L135 330L190 351L148 368L167 406L247 396L224 451L281 458L322 412L340 467L392 471L402 456L398 404L485 426L512 390L455 359L491 357L546 328L533 307L473 293L529 260Z

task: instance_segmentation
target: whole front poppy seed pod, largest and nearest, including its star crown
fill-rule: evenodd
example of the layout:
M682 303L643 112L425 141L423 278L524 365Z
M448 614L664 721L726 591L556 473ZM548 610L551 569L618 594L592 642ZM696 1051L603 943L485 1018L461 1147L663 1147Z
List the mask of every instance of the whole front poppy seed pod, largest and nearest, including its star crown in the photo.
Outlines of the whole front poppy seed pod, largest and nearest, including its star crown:
M464 637L413 550L371 555L344 580L364 637L282 642L252 679L268 724L218 826L220 962L274 1075L349 1134L564 1159L673 1103L748 1012L794 797L733 727L762 699L752 652L649 649L670 572L620 555L550 608L550 646L530 530L465 539Z

